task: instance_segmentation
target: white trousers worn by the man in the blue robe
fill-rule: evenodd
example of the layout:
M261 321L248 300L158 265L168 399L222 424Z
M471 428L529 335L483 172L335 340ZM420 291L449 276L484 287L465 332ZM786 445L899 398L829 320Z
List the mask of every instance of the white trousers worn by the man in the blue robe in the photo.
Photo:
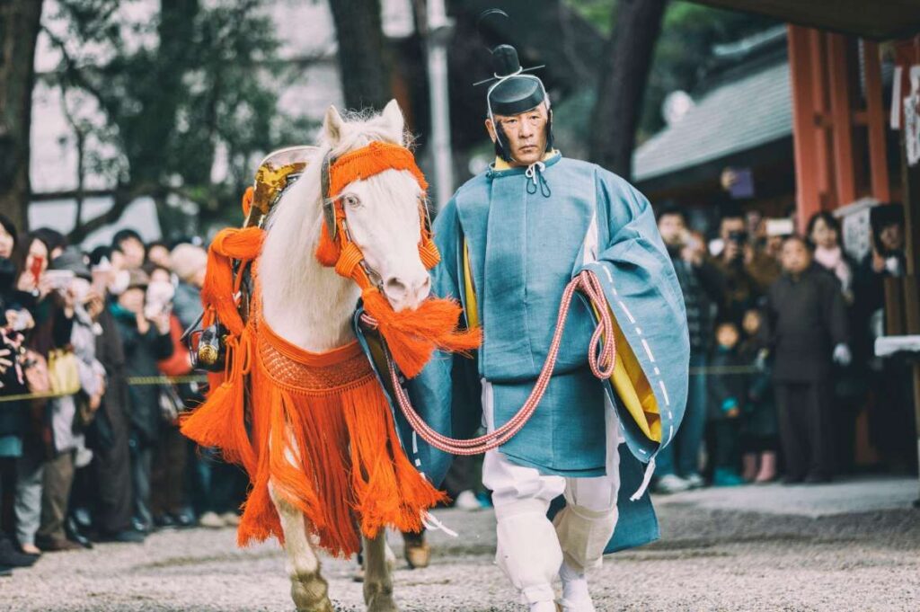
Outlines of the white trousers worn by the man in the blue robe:
M482 406L489 432L495 429L492 401L492 386L484 380ZM605 409L606 476L544 475L512 463L498 449L486 453L482 481L492 491L498 521L495 559L524 604L555 599L552 583L563 560L577 572L599 566L614 534L620 485L619 426L609 402ZM565 495L566 507L550 522L546 511L559 495Z

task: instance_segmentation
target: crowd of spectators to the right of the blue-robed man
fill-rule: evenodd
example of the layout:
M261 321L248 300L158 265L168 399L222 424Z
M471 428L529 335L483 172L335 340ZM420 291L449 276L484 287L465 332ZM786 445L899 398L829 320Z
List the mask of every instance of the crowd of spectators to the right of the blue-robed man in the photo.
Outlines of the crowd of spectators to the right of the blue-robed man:
M830 481L853 468L863 409L880 465L916 469L908 365L873 350L885 279L904 271L899 204L871 210L861 261L829 213L801 234L792 219L726 214L708 242L680 208L658 224L684 291L691 377L656 491Z

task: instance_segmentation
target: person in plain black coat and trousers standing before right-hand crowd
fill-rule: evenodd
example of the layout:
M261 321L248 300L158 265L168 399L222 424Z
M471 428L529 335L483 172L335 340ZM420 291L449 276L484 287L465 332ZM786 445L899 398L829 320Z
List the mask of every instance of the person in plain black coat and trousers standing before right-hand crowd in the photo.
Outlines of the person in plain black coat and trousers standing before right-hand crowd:
M803 238L786 239L782 265L767 293L765 334L775 357L786 481L826 482L834 472L832 364L851 361L844 298Z

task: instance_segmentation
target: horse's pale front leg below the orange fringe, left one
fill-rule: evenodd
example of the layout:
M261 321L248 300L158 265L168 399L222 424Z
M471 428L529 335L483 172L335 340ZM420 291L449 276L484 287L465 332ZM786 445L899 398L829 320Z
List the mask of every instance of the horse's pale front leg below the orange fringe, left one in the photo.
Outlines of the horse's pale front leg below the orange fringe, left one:
M306 517L275 495L274 487L270 486L269 491L284 530L293 605L297 612L334 612L328 597L329 585L319 574L319 559L306 533Z

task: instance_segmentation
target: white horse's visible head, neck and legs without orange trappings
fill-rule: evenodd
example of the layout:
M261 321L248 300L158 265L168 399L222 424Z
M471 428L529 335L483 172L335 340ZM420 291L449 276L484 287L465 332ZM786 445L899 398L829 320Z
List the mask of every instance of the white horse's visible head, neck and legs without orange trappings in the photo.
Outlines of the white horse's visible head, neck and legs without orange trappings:
M305 351L328 352L354 341L351 318L361 295L356 283L314 257L324 223L322 160L372 141L405 144L404 130L396 100L381 114L363 120L346 121L329 107L316 157L270 214L259 258L263 317L275 333ZM390 304L396 310L419 306L428 297L430 280L418 249L423 195L418 182L407 171L385 170L352 182L343 192L349 195L345 212L351 237L380 275ZM332 612L305 516L273 491L271 498L284 531L295 606L305 612ZM394 612L385 530L373 540L364 538L363 546L368 610Z

